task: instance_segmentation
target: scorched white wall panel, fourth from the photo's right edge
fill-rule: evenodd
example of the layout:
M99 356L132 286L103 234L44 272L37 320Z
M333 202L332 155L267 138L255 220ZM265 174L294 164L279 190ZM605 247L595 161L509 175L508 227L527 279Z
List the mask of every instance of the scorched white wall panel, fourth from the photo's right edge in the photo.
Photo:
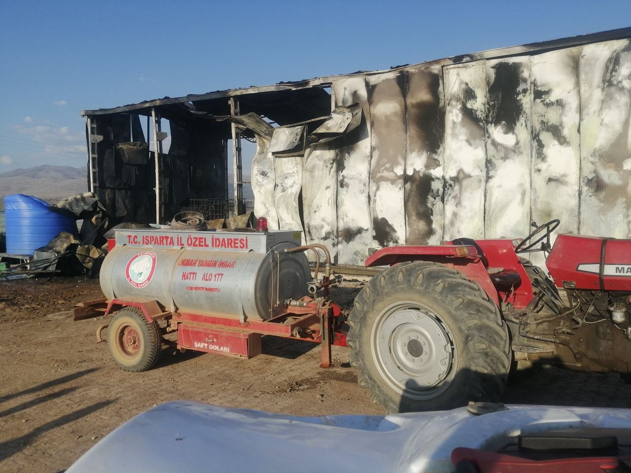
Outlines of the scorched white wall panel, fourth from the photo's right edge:
M444 68L444 238L483 238L487 79L484 61Z

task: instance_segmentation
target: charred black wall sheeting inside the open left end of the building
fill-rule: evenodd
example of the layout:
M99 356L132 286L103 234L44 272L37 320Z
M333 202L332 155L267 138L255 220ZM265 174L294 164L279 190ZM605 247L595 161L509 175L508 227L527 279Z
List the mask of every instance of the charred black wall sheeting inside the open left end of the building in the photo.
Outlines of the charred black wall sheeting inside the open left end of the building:
M110 216L110 225L155 223L155 160L146 146L139 115L97 115L91 120L97 135L103 137L96 146L95 192ZM172 117L169 125L171 144L168 154L161 155L160 166L165 221L189 198L228 197L225 124L204 117Z

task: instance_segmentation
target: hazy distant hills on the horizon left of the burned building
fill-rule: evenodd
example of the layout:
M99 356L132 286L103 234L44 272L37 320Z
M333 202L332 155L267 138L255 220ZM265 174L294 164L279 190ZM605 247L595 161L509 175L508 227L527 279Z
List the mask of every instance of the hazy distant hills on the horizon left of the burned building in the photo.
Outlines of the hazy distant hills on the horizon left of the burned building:
M85 167L43 165L0 173L0 197L26 194L62 199L86 190L88 171Z

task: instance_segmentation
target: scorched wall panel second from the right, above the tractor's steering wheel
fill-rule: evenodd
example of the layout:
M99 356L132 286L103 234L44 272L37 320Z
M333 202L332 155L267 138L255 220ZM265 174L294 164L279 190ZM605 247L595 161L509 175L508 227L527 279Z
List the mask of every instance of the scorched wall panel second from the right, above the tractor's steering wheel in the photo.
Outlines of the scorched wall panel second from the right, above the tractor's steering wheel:
M531 220L560 219L557 234L579 231L579 54L573 48L531 57Z

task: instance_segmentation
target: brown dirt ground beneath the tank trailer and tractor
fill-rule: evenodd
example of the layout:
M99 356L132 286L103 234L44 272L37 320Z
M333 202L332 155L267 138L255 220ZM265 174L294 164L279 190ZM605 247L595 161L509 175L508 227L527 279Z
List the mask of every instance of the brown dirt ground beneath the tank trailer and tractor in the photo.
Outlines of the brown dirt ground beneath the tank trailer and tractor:
M361 285L333 297L349 303ZM315 345L264 337L263 353L249 360L166 351L153 370L121 371L107 346L95 344L102 318L72 320L74 303L99 297L93 280L0 282L0 471L61 472L112 429L168 400L307 416L383 412L340 347L331 370L319 368ZM502 401L631 407L631 385L617 374L546 367L511 383Z

